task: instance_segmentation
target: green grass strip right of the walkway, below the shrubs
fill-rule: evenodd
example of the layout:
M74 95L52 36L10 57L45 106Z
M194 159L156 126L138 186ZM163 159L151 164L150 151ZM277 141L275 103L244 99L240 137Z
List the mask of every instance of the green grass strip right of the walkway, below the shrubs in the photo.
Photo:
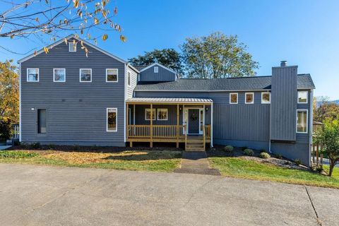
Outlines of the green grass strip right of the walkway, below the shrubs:
M304 184L339 189L339 168L335 167L332 177L300 169L287 169L268 163L245 160L241 157L209 157L210 165L227 177L258 179L290 184ZM328 167L325 166L325 170Z

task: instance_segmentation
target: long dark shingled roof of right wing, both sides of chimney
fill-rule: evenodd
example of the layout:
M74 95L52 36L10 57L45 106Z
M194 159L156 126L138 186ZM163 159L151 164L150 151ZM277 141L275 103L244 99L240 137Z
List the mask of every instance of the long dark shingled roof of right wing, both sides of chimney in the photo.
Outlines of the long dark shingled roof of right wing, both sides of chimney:
M242 78L179 78L165 83L139 83L136 91L181 91L216 92L240 90L270 90L272 76L253 76ZM298 89L313 89L314 83L309 74L297 76Z

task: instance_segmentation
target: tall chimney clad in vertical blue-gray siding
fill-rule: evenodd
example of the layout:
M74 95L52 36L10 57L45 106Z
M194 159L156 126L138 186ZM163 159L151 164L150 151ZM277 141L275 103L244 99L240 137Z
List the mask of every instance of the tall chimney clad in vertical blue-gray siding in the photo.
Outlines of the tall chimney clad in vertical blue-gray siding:
M297 66L272 69L270 139L296 140Z

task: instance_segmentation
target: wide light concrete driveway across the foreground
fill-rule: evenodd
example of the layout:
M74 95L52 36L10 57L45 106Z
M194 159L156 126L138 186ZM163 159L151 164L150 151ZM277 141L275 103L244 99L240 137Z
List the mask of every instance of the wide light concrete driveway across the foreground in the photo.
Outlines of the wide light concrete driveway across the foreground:
M0 164L0 225L339 225L338 219L336 189Z

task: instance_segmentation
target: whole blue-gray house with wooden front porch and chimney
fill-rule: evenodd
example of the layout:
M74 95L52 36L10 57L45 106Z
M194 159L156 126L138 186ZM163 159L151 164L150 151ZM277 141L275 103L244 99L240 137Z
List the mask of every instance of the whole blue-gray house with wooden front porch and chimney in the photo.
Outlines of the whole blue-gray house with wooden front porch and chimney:
M74 35L66 40L18 61L20 141L230 144L310 165L315 87L297 66L282 61L272 76L183 79L161 64L133 67Z

